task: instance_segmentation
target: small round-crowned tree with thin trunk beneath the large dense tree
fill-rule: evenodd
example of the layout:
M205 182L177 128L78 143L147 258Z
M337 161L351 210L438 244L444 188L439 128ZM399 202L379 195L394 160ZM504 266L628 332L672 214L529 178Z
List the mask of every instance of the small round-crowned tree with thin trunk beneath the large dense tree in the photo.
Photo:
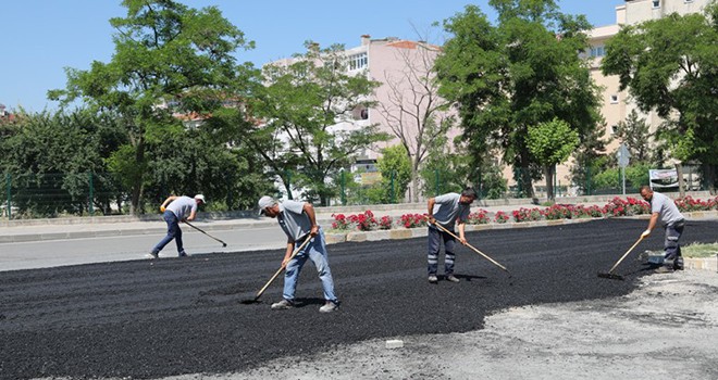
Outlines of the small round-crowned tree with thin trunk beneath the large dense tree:
M544 167L548 200L556 199L554 194L556 165L566 161L579 143L579 132L558 118L529 127L527 145L534 160Z

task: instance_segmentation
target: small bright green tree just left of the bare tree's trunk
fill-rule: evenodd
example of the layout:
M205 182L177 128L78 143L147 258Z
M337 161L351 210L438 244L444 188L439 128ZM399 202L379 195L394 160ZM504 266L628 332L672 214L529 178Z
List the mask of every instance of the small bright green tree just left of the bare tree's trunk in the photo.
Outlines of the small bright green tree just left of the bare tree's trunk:
M404 145L393 145L382 150L376 166L382 174L382 203L403 202L404 194L411 182L411 162Z

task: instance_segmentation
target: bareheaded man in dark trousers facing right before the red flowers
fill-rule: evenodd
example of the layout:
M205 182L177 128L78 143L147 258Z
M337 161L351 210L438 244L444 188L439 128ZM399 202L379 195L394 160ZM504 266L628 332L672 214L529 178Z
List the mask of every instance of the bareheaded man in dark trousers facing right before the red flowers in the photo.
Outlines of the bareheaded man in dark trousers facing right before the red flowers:
M454 262L456 255L454 254L455 238L445 231L440 230L435 224L441 225L451 233L454 226L459 226L459 240L461 244L467 244L467 239L463 236L466 221L469 218L471 202L476 199L476 192L472 188L466 188L461 194L449 192L436 198L429 199L429 242L428 242L428 268L429 268L429 282L438 282L436 273L438 270L438 253L441 250L441 241L444 241L444 275L450 282L459 282L459 279L454 276Z

